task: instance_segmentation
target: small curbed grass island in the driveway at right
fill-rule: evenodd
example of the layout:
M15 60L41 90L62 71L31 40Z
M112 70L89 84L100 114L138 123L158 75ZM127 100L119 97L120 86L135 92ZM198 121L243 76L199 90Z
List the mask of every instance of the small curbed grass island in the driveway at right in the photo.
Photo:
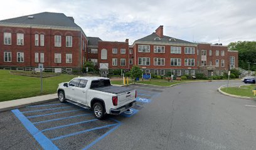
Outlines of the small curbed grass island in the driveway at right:
M255 85L250 85L250 86L241 86L241 88L238 87L230 87L230 88L221 88L221 91L228 93L228 94L233 94L237 96L248 96L248 97L253 97L253 92L252 90L255 89ZM227 91L226 91L227 90Z

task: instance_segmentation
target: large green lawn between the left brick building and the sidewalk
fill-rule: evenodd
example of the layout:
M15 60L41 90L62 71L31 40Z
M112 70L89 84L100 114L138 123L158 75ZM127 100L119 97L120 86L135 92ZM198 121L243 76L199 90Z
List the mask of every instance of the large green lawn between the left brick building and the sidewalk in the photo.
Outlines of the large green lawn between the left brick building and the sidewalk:
M0 70L0 77L1 102L56 93L59 83L70 81L77 76L61 74L60 76L43 78L42 94L40 94L40 78L14 75L10 74L8 70Z

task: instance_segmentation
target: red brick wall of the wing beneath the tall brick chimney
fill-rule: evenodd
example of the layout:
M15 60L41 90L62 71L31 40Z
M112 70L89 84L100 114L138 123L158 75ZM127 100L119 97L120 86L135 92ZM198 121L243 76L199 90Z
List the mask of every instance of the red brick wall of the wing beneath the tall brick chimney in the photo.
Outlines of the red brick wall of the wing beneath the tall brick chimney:
M150 53L139 53L139 45L150 45ZM165 53L154 53L154 46L161 46L161 44L135 44L136 65L138 65L138 58L150 58L150 66L141 66L149 69L197 69L196 61L196 46L179 46L181 47L181 54L171 54L171 46L165 46ZM195 47L195 54L184 54L184 47ZM165 66L154 66L154 58L165 58ZM181 66L171 66L171 58L181 58ZM184 59L195 59L195 66L184 66Z

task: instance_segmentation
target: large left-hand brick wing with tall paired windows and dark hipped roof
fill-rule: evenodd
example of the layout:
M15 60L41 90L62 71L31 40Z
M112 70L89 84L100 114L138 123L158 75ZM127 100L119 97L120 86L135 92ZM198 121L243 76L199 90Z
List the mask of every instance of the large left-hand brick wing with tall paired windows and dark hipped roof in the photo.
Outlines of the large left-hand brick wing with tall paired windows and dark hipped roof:
M0 21L0 68L80 69L88 39L73 17L42 12Z

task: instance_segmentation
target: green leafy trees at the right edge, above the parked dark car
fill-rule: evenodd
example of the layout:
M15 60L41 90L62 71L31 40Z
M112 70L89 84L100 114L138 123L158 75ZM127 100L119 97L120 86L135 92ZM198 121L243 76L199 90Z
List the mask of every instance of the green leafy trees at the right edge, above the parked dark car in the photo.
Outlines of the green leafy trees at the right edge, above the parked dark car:
M248 70L248 63L250 63L250 69L256 71L256 41L230 42L228 49L238 51L240 68Z

